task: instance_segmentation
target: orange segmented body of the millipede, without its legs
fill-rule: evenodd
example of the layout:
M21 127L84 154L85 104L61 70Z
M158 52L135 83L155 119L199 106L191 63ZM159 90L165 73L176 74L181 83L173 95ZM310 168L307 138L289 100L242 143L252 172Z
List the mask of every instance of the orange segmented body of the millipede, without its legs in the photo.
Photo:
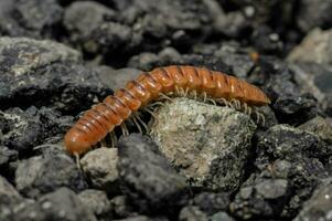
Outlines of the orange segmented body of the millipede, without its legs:
M213 101L237 101L251 107L270 103L256 86L221 72L194 66L158 67L141 73L125 88L87 110L65 135L66 150L73 155L87 151L139 108L169 94L204 95Z

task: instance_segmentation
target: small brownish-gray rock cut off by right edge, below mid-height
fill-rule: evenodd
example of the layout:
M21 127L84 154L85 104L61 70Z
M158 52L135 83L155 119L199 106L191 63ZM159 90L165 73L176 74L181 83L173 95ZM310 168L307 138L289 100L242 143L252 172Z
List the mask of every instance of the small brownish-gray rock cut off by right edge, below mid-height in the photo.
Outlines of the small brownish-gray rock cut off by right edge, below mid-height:
M332 126L321 116L300 125L299 129L317 134L322 140L332 144Z

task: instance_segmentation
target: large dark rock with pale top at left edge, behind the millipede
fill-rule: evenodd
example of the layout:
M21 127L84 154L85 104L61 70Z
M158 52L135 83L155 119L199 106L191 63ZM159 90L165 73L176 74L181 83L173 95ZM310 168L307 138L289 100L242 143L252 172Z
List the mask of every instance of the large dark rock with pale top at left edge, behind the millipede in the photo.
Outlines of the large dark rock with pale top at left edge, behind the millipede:
M78 52L62 44L31 39L0 39L1 108L54 106L83 110L111 90L90 67L77 64Z

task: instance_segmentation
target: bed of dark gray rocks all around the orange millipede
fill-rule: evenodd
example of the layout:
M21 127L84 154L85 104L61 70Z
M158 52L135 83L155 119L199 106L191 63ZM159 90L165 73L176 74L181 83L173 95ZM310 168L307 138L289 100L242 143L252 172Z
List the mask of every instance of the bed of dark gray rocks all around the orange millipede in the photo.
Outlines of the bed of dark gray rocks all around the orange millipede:
M331 0L0 0L0 220L332 220L331 12ZM62 143L79 114L170 64L259 86L266 124L176 98L79 170Z

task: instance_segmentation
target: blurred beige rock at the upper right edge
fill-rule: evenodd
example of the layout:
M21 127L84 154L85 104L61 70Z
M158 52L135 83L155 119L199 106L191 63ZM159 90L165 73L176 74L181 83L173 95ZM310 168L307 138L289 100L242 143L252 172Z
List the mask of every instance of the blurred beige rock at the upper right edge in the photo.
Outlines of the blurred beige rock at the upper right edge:
M332 9L332 3L331 3ZM317 14L317 13L315 13ZM331 19L332 24L332 19ZM322 31L317 28L308 33L301 44L296 46L288 55L290 62L313 62L318 64L332 64L332 30Z

